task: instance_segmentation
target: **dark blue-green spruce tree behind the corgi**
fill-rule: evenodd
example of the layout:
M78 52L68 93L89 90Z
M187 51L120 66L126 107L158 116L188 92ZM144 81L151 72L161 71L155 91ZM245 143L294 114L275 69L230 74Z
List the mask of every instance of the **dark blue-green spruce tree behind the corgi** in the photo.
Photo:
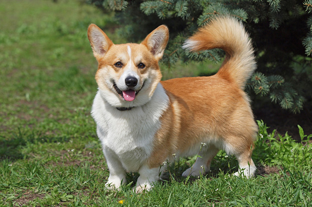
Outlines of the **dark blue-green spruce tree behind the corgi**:
M184 40L219 15L244 22L254 42L258 69L246 90L270 98L283 109L298 113L311 99L312 0L86 0L104 11L115 11L119 35L142 40L160 24L170 29L163 62L179 59L221 61L214 49L199 53L182 50ZM178 70L178 69L177 69ZM310 87L310 88L309 88Z

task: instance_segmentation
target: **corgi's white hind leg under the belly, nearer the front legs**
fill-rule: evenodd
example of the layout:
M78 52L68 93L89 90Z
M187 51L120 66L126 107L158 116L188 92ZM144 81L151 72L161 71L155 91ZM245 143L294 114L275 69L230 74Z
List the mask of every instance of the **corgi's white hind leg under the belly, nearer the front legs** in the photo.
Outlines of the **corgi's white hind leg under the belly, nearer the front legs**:
M198 155L200 157L197 157L196 162L194 165L185 170L182 173L182 176L187 177L189 175L191 176L199 176L203 175L210 170L210 164L213 158L215 157L216 153L218 153L219 149L217 149L215 146L211 145L208 147L207 150L200 152Z

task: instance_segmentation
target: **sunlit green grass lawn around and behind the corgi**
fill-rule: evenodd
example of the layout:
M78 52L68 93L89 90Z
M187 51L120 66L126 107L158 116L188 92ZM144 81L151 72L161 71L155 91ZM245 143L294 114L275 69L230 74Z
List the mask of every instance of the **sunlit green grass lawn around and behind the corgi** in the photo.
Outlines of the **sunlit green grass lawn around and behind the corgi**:
M0 207L312 206L312 135L298 127L302 141L294 142L261 121L253 179L233 177L237 162L220 151L207 176L181 177L193 157L174 163L150 192L133 193L137 173L120 191L107 191L90 116L97 62L86 32L96 23L125 42L114 35L112 15L78 0L1 0L0 19ZM163 69L163 78L217 67L179 64Z

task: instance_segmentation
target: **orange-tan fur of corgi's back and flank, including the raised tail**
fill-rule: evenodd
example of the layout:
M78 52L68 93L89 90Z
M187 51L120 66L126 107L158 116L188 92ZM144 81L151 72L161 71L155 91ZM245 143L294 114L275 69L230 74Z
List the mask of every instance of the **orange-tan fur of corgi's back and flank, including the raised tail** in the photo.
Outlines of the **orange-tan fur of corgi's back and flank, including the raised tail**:
M170 125L178 131L171 136L166 146L183 152L208 136L208 141L209 138L222 139L230 144L234 148L232 153L241 155L241 164L247 166L253 163L251 154L257 126L243 88L255 70L255 61L251 41L242 28L243 25L232 18L219 18L189 38L193 42L186 41L184 48L191 51L221 48L226 52L226 58L216 75L161 82L171 94L170 100L177 101L178 110L183 114L176 119L177 122L163 122L166 128ZM175 111L173 105L170 108ZM170 115L164 113L163 120L169 120L166 117ZM158 152L163 156L164 151L158 148L155 154ZM151 160L155 160L157 155L151 157Z

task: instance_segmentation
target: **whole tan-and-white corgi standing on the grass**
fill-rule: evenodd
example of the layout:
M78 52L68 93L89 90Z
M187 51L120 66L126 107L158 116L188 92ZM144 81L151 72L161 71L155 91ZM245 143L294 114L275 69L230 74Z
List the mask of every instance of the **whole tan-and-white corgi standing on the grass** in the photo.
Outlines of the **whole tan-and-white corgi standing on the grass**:
M114 44L95 24L88 38L98 61L91 114L110 173L107 188L118 189L132 171L139 173L136 192L150 190L166 161L198 153L182 175L205 174L219 150L237 158L235 175L254 175L258 128L244 87L256 62L241 22L218 17L184 42L190 52L225 51L222 66L208 77L161 81L158 61L169 39L165 25L140 44Z

